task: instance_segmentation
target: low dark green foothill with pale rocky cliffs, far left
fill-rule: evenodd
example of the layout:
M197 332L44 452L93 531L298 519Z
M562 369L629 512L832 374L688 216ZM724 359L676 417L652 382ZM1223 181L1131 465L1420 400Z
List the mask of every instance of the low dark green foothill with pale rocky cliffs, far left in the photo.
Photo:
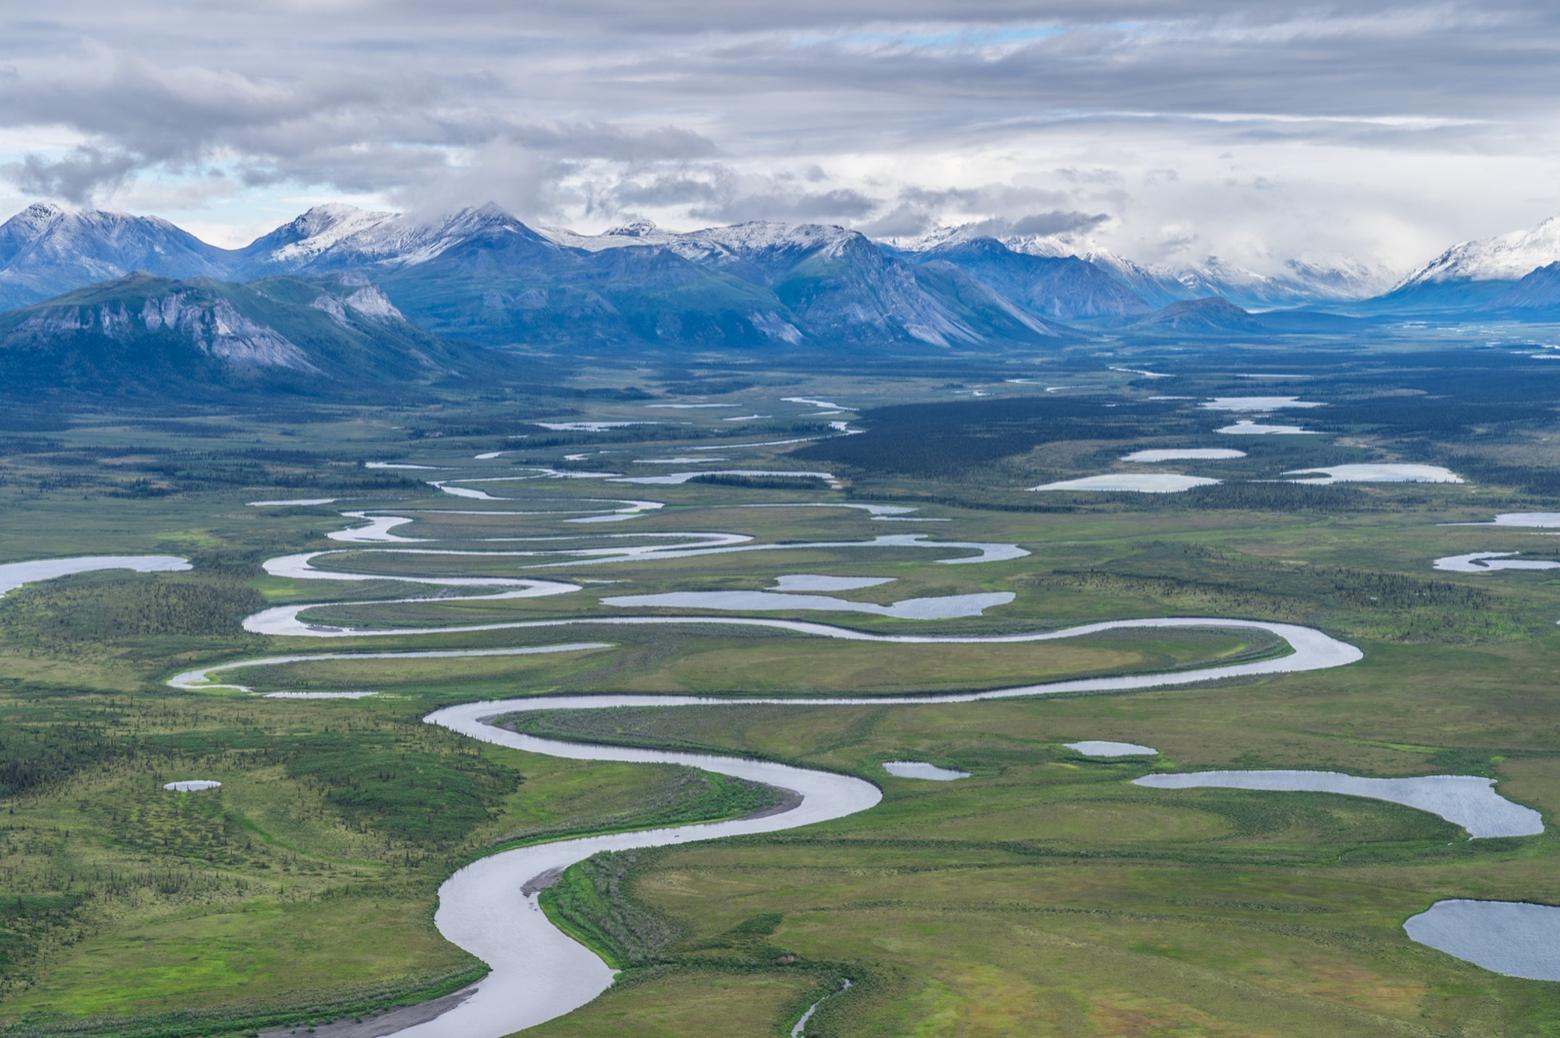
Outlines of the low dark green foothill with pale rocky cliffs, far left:
M0 314L9 390L357 395L491 371L498 361L480 354L451 350L349 276L231 284L129 275Z

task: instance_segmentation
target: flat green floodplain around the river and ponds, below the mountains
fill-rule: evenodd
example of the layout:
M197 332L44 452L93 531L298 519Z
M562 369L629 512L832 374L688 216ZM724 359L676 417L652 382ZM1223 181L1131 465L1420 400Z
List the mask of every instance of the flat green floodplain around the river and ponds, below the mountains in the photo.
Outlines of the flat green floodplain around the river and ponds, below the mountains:
M8 539L9 560L159 554L192 568L80 573L0 599L0 738L17 763L0 815L9 869L0 926L16 949L0 974L0 1021L16 1033L285 1033L417 1004L482 974L434 926L437 891L462 865L534 841L777 809L772 790L725 776L552 759L421 723L443 707L562 693L872 699L1240 665L1285 651L1259 631L1217 624L1006 645L847 642L697 620L445 631L652 609L605 604L610 598L768 593L797 599L766 610L774 618L874 635L986 638L1126 618L1229 617L1315 627L1359 646L1363 659L1044 701L523 712L510 724L544 738L753 755L853 776L883 793L869 810L819 826L640 849L569 869L546 910L619 968L621 980L527 1033L619 1035L624 1021L636 1033L785 1033L817 1002L810 1024L817 1033L869 1036L916 1033L927 1021L967 1033L1541 1035L1560 1022L1551 983L1416 943L1404 924L1459 899L1560 904L1552 824L1470 840L1434 813L1385 801L1134 785L1197 771L1470 776L1494 780L1505 801L1544 819L1560 810L1549 695L1560 667L1552 635L1560 584L1544 571L1432 568L1477 553L1552 554L1541 526L1490 524L1496 515L1552 510L1535 482L1548 471L1541 445L1552 429L1530 415L1480 439L1445 423L1485 428L1482 412L1432 400L1421 414L1392 403L1406 400L1407 382L1435 400L1474 384L1466 371L1437 375L1437 364L1395 361L1393 395L1381 398L1373 387L1388 376L1370 364L1307 370L1306 400L1326 404L1306 411L1307 426L1326 435L1254 435L1240 443L1245 457L1225 453L1229 440L1218 429L1229 417L1198 406L1237 387L1198 381L1182 367L1187 401L1150 403L1147 390L1129 387L1039 396L1037 387L992 378L981 387L994 396L905 417L922 435L899 454L881 450L874 431L900 428L892 407L917 393L942 401L938 379L883 393L869 378L797 376L783 390L735 393L729 411L538 406L537 417L580 425L548 429L552 440L538 448L516 448L524 442L505 439L507 418L470 401L393 418L353 409L292 421L222 418L242 437L197 435L214 418L179 420L179 432L164 432L86 415L50 434L58 450L103 459L81 465L86 482L70 498L27 489L50 454L11 445L16 476L0 485L0 507L8 535L20 526L25 537ZM1128 365L1162 370L1147 357ZM1086 381L1050 384L1069 378ZM1513 386L1513 393L1548 392ZM718 429L722 415L789 414L778 411L782 395L863 407L849 418L866 432L828 440L825 428L775 421L761 432L741 426L679 439ZM1521 412L1513 400L1502 406ZM644 411L693 425L604 425L638 421ZM973 414L983 434L966 437L961 423ZM409 429L423 434L412 439ZM1067 435L1051 439L1059 431ZM654 476L661 467L632 459L807 435L825 439L683 465L828 471L846 490L816 479L714 476L633 487L632 496L660 506L647 507L616 499L630 487L608 478L460 484L495 499L427 482L558 465ZM1006 453L983 459L994 435L1006 437ZM131 492L136 479L159 478L148 450L189 443L211 454L200 479L184 470L164 476L165 493ZM1026 490L1098 475L1134 451L1176 448L1220 451L1192 468L1218 485L1167 495ZM601 450L621 453L565 460ZM788 457L794 450L807 457ZM493 451L504 454L477 460ZM1465 482L1270 482L1301 468L1401 457ZM437 471L356 464L385 459ZM627 518L574 521L601 515ZM906 518L944 521L900 526ZM331 537L340 531L429 543ZM978 549L863 546L909 531L1028 554L947 565ZM710 545L741 537L752 540L725 543L786 548L622 551L690 534ZM398 546L438 553L378 551ZM613 549L612 560L451 554L601 548ZM370 579L262 568L314 551L343 553L317 568ZM504 587L407 578L573 590L498 598L491 593ZM396 601L413 596L423 601ZM807 607L966 596L992 604L936 618ZM284 606L310 606L301 621L345 634L243 629L246 617ZM685 603L665 609L658 615L744 615ZM404 631L353 631L378 627ZM576 648L371 656L558 643ZM254 695L164 684L212 663L324 652L337 659L231 674ZM265 698L275 693L285 696ZM1072 748L1090 741L1158 754L1108 759ZM885 762L967 777L902 780ZM186 779L222 785L162 788ZM852 986L841 990L846 977Z

